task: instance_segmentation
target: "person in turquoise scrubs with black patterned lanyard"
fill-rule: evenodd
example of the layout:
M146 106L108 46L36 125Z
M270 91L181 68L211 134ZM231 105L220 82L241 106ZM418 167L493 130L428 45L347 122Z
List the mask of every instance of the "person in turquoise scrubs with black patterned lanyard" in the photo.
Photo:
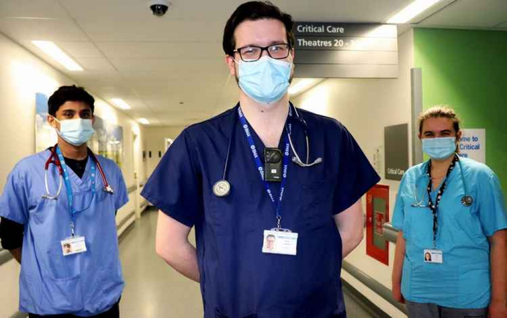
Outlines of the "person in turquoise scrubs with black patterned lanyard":
M419 137L431 159L400 183L393 295L406 301L410 318L505 318L507 221L498 178L456 153L453 110L421 114Z

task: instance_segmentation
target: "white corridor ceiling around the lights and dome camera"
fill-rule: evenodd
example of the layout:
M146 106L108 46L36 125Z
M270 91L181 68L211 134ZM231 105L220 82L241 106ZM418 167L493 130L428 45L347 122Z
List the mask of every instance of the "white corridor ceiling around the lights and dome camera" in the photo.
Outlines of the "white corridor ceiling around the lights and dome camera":
M151 15L148 0L0 0L0 33L104 100L124 99L132 118L183 125L237 99L221 36L244 1L171 2L172 10L159 18ZM273 2L297 21L385 22L411 0ZM418 17L419 25L507 30L507 0L445 0L436 9ZM60 67L32 40L54 41L84 71Z

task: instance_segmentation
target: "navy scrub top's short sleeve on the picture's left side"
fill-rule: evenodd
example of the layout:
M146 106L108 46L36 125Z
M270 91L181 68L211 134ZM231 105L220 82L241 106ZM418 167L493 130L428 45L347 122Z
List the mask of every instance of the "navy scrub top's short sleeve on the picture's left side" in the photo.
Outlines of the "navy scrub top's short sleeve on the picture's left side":
M198 153L186 130L166 151L146 182L141 196L188 227L192 227L202 215L202 177Z

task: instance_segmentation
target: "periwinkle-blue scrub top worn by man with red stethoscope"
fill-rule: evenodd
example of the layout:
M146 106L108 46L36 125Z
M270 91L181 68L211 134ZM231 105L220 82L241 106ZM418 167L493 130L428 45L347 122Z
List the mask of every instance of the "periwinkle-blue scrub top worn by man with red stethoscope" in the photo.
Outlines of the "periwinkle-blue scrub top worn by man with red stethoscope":
M21 160L8 176L0 197L0 216L24 225L19 309L41 315L96 315L115 304L123 289L115 211L128 202L125 182L113 161L97 156L114 194L102 190L97 170L96 195L90 208L76 214L76 236L85 237L87 251L63 256L60 241L71 236L71 216L65 183L57 200L42 199L44 164L49 155L45 150ZM67 169L78 211L92 198L92 164L88 157L82 179ZM51 195L56 194L58 179L58 169L51 164Z

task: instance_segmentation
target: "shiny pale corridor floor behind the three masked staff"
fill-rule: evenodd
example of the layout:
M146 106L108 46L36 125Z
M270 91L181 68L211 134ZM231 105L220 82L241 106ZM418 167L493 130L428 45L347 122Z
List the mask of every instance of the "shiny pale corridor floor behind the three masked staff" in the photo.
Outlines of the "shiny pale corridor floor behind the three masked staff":
M125 290L121 318L199 318L199 285L171 269L155 253L155 210L147 210L120 242ZM193 235L191 235L193 237ZM349 318L374 317L345 291Z

